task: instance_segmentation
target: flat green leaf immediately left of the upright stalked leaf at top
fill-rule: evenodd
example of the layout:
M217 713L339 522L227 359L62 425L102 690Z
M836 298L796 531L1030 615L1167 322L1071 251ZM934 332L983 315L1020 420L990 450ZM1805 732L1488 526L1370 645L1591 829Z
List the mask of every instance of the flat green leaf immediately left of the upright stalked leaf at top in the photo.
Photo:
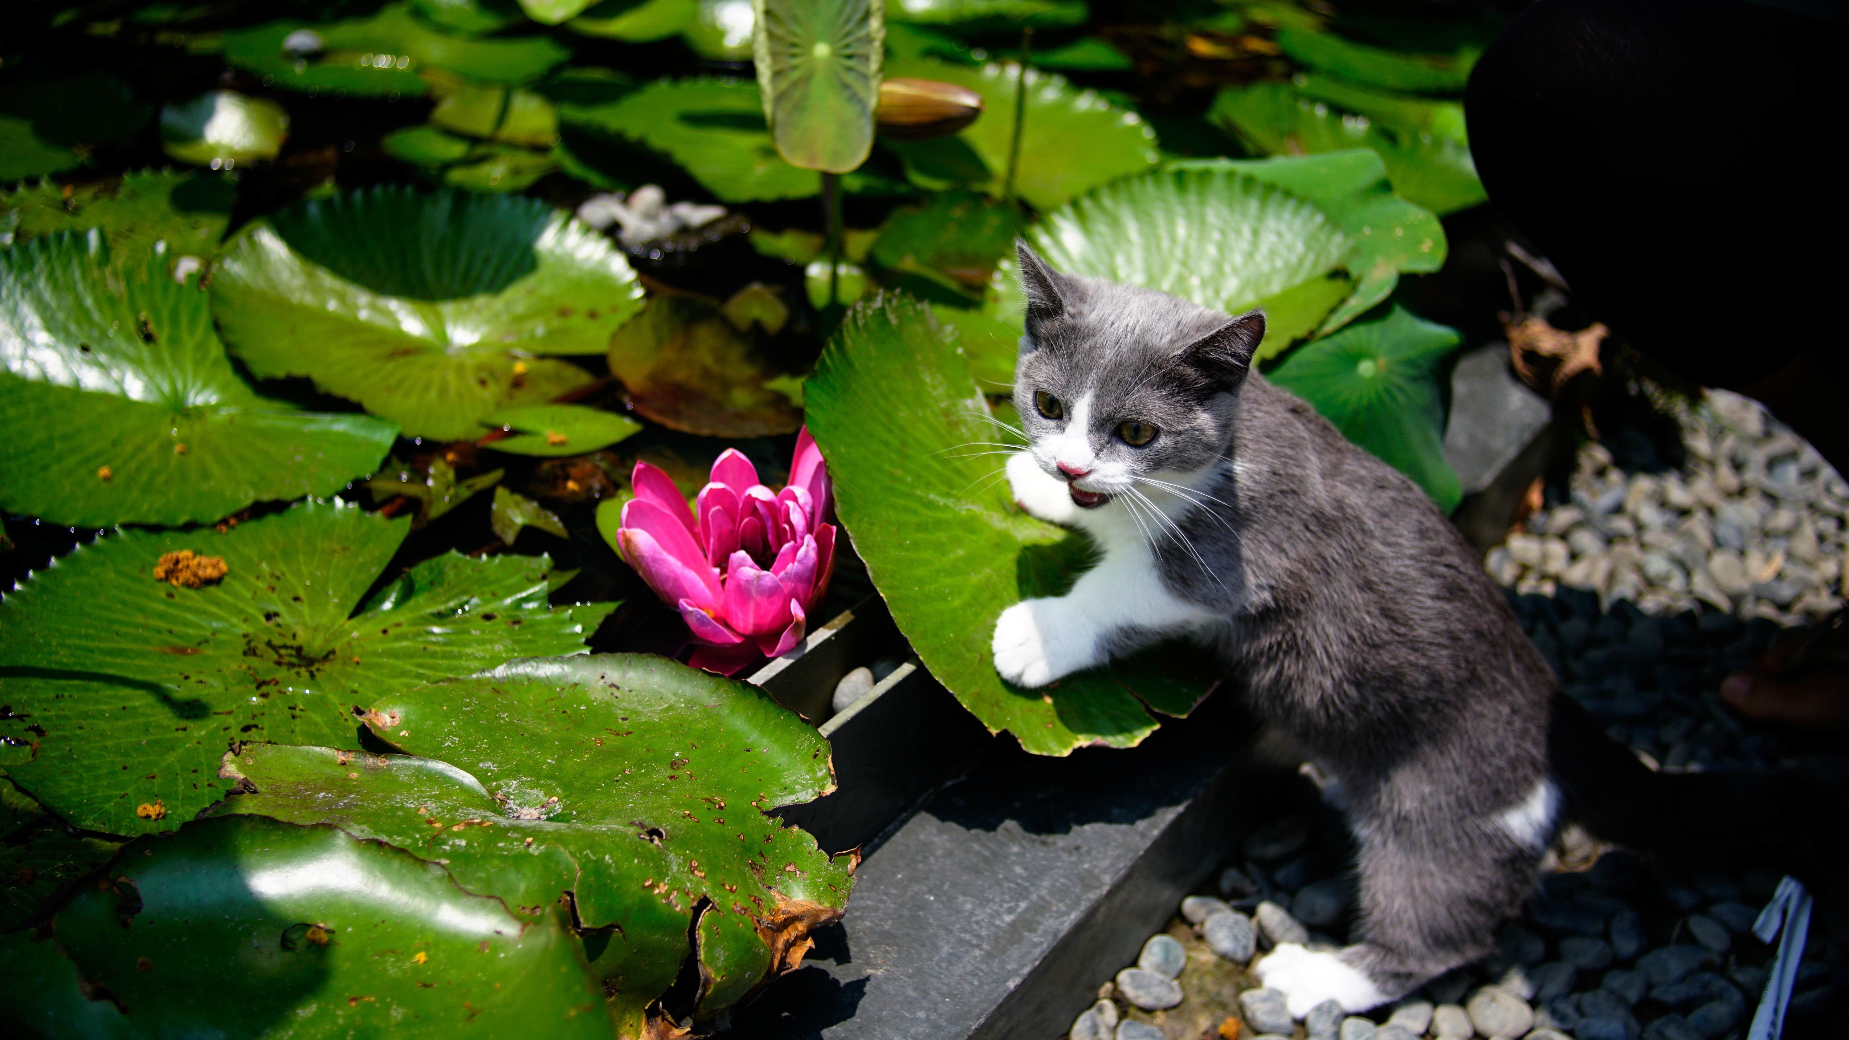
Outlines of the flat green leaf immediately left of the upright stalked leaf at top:
M749 9L749 4L747 4ZM808 198L821 174L784 163L749 79L658 79L601 105L560 105L568 126L667 153L721 201Z

